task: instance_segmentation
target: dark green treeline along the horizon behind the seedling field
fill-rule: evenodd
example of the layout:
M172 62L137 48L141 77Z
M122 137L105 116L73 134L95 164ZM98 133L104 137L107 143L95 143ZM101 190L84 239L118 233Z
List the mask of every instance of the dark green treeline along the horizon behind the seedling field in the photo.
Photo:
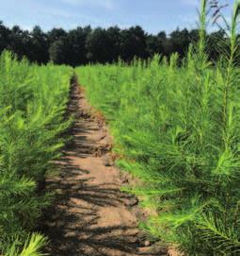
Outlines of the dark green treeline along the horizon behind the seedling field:
M114 62L119 58L131 61L135 57L147 59L158 53L169 57L178 52L184 57L189 43L198 41L198 29L176 29L168 36L161 31L157 35L147 34L140 26L120 29L111 26L107 29L90 26L66 31L53 28L43 32L40 26L32 31L23 30L20 26L8 28L0 22L0 52L8 49L20 58L46 63L49 60L56 64L83 65L88 62ZM209 55L217 59L216 43L223 39L224 32L218 31L208 35Z

